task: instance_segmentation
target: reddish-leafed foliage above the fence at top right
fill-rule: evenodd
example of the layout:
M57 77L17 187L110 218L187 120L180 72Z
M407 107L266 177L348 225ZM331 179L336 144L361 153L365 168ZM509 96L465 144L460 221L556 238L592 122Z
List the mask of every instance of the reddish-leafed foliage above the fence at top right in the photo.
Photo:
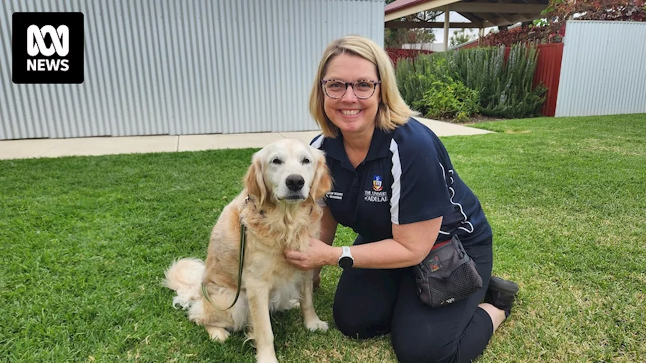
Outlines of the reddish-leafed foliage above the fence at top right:
M569 19L646 21L645 0L550 0L543 11L545 22L535 21L510 30L488 34L481 45L561 43ZM543 24L541 24L543 23Z

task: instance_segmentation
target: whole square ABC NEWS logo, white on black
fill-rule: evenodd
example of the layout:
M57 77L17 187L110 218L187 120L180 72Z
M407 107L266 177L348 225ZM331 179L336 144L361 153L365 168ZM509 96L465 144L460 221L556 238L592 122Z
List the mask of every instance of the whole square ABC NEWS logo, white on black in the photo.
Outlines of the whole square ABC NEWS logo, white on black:
M14 83L83 83L83 14L13 16Z

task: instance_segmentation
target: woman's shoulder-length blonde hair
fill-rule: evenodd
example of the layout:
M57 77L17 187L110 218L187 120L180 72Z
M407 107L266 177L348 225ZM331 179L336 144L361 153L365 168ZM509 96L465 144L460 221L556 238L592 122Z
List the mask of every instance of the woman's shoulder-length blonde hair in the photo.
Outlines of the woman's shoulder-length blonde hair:
M323 57L318 64L317 76L309 94L309 112L321 128L323 136L335 138L339 134L339 128L330 121L323 108L326 94L321 81L328 69L329 61L340 54L359 56L377 66L377 75L381 81L379 85L381 101L375 118L376 127L383 130L393 130L406 123L410 116L419 114L406 105L399 93L395 69L386 51L368 38L345 36L330 43L323 52Z

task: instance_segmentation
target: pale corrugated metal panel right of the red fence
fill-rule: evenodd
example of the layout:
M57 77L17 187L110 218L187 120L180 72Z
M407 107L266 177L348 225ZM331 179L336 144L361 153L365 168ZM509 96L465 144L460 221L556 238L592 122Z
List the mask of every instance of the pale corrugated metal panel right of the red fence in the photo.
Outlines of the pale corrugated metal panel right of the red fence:
M646 23L568 21L556 116L646 112Z

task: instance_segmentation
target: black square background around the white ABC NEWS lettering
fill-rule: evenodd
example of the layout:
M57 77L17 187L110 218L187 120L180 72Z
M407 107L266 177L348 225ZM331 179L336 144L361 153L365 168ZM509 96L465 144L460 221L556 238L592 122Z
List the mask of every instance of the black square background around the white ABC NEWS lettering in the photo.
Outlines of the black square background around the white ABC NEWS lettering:
M83 83L83 13L81 12L15 12L12 18L12 81L14 83ZM45 25L57 28L66 25L69 29L70 51L65 57L56 52L45 57L37 54L32 57L27 53L27 28ZM45 45L51 45L50 36L45 36ZM27 70L28 60L45 59L56 62L67 59L67 70ZM46 67L47 69L47 67Z

